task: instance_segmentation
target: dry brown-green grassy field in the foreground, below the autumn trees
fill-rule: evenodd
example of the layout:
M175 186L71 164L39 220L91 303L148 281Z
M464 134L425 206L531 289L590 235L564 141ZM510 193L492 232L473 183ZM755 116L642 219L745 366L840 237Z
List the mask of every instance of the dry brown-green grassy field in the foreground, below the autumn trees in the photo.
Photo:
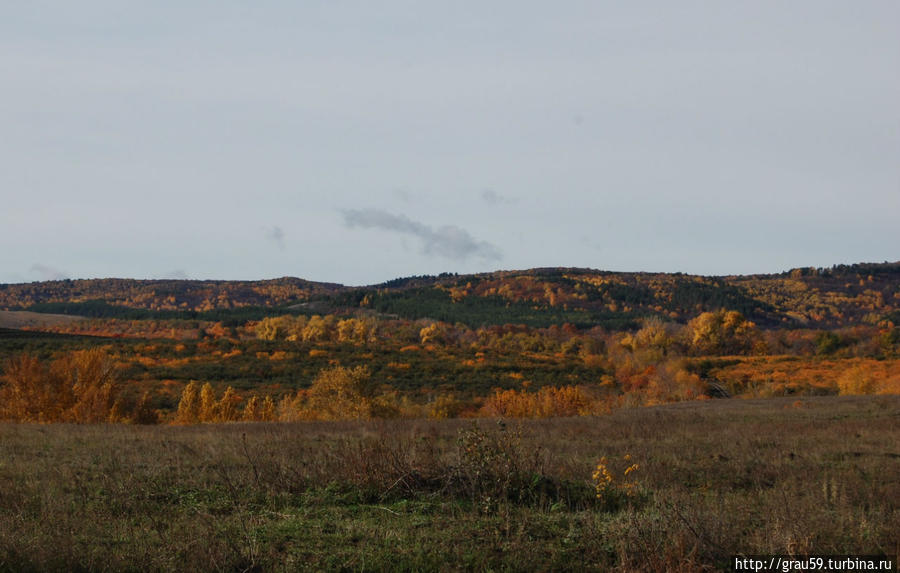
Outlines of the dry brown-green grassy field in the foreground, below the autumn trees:
M696 571L740 553L896 557L898 475L897 396L502 424L4 424L0 570Z

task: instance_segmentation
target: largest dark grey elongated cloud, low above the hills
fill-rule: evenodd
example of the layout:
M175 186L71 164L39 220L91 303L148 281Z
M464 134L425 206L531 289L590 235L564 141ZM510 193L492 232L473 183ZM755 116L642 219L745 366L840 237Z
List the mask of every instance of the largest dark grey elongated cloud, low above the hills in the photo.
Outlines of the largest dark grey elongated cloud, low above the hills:
M422 251L448 259L463 260L470 256L485 260L500 260L500 249L479 241L465 229L456 225L444 225L433 229L429 225L413 221L405 215L395 215L380 209L345 209L344 224L363 229L384 229L417 237L422 241Z

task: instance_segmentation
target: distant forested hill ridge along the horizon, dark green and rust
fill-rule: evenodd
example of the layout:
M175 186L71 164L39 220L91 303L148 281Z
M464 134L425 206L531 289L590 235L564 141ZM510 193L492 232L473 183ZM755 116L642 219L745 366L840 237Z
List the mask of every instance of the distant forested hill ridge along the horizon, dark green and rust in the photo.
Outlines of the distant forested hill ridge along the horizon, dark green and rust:
M900 322L900 262L728 277L544 268L442 274L345 287L297 278L266 281L93 279L0 285L0 309L85 316L160 317L378 312L446 322L569 323L629 328L647 316L685 322L736 310L762 326L843 327ZM144 316L144 317L147 317Z

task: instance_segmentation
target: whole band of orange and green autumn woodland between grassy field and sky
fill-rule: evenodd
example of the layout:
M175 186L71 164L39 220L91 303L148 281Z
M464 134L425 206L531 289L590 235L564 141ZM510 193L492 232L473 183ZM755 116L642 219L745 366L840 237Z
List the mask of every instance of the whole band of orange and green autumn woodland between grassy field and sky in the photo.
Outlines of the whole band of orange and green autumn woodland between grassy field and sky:
M526 418L897 394L898 286L900 263L0 285L0 417Z

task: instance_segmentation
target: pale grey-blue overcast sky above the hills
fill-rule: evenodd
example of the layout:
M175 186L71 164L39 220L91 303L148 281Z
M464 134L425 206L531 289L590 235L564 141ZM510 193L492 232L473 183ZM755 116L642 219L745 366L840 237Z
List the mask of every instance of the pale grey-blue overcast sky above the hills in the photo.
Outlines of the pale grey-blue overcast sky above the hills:
M900 2L7 3L0 283L900 259Z

